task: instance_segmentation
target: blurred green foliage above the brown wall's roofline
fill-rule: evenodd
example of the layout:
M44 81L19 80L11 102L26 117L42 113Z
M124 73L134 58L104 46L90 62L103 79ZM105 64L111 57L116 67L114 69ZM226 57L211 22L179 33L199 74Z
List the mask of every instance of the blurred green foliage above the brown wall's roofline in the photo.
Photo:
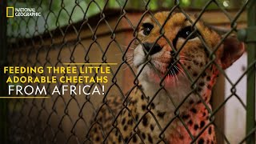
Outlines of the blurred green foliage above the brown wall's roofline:
M216 0L216 3L210 0L180 0L179 2L182 8L191 9L202 9L206 3L211 2L207 10L219 10L219 6L223 9L238 9L246 0ZM42 13L42 17L8 18L9 38L31 38L84 18L90 18L103 9L121 9L123 6L126 10L171 9L174 6L174 0L150 0L150 2L146 0L42 0L41 2L18 0L9 1L8 6L33 7L37 12Z

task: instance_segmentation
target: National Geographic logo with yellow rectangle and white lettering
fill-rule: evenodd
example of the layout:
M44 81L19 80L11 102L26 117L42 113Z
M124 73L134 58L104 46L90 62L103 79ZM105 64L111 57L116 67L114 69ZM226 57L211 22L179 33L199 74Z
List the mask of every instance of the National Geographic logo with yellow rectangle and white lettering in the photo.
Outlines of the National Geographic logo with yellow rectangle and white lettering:
M14 18L15 17L40 17L41 12L35 10L32 7L20 7L14 8L12 6L6 7L6 17Z

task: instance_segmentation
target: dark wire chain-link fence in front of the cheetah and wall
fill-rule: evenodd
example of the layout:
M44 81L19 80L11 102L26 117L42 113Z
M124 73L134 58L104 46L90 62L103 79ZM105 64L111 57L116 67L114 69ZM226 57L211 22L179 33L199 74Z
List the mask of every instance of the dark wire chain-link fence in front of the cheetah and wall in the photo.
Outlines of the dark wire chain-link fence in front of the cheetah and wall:
M16 15L14 18L6 18L7 6L13 6L15 13L15 8L34 8L34 12L40 12L41 16L21 17ZM108 81L104 84L102 82L15 83L15 86L46 86L47 94L46 98L1 99L2 142L98 143L102 141L109 143L161 143L170 141L170 143L186 143L184 139L183 141L176 141L176 137L180 139L188 137L191 143L210 143L215 142L215 139L218 143L254 143L256 130L255 7L254 0L239 2L227 0L2 1L0 29L2 70L3 66L42 66L43 68L47 66L75 66L76 68L85 68L86 66L96 65L110 67L110 74L107 74ZM169 13L163 14L163 17L154 15L156 11L162 10ZM174 18L175 14L176 19ZM177 14L181 15L177 16ZM178 23L182 18L184 21ZM206 22L206 24L201 21ZM215 27L210 26L208 29L204 25L206 27L214 25ZM166 28L167 26L169 28ZM155 32L156 35L148 41L150 37L146 36L156 27L158 28L158 31ZM185 27L184 34L187 34L186 32L189 32L189 34L184 36L182 27ZM225 27L225 29L220 27ZM231 58L233 52L236 51L236 47L239 47L240 44L238 42L229 43L228 45L232 47L232 50L228 55L225 55L226 51L221 49L225 45L226 39L236 33L238 33L241 40L246 42L245 53L248 62L246 68L242 70L242 74L239 74L238 78L232 79L230 73L224 70L227 66L218 62L218 60L229 61L226 62L226 65L233 63L225 58ZM182 40L175 37L182 37ZM165 47L162 46L162 42L165 43ZM199 42L202 45L201 49L197 49L198 45L191 44L191 42ZM157 58L156 54L161 53L159 51L167 49L166 47L171 51L169 55L172 60L168 62L167 71L163 70L162 72L161 66L163 65L154 62L153 59ZM140 49L142 51L139 51ZM194 55L193 50L198 50L200 53L197 51ZM223 53L225 57L219 58L218 54L220 53ZM138 54L144 54L145 61L141 65L138 65L140 61ZM240 56L241 54L234 57ZM205 61L193 62L193 58L190 59L190 57L200 57ZM191 63L192 66L190 66ZM5 97L8 95L7 75L2 74L2 70L1 95ZM194 70L197 71L194 72ZM156 73L149 77L154 80L143 79L143 74L147 74L145 71ZM217 86L212 89L213 85L211 84L214 84L215 76L217 77L215 71L218 71L220 78L218 78ZM232 71L231 73L238 73L238 71ZM14 78L15 76L22 77L24 74L9 74L8 76ZM102 74L98 74L98 71L94 70L89 75L84 73L33 73L25 74L25 76L32 76L33 78L42 76L56 76L57 78L62 76L66 78L88 76L97 78L101 77ZM247 76L247 85L246 90L242 92L245 92L246 95L241 95L238 92L241 89L239 84L242 79L245 79L245 76ZM168 80L170 82L167 82ZM202 80L206 81L202 82ZM155 89L152 89L151 87L146 88L145 84L143 86L143 82L158 82L158 84L154 83ZM182 82L186 83L182 84ZM225 82L230 87L226 86ZM92 93L95 86L101 87L104 85L104 94L51 93L54 86L58 86L62 90L64 85L75 87L89 85L90 88L86 88L88 93ZM168 85L175 88L168 87ZM184 86L186 86L186 89ZM149 92L151 89L154 94ZM210 101L208 99L210 96L206 97L206 93L210 93L211 90L213 90L213 96ZM224 91L230 91L230 93ZM137 108L136 110L131 109L130 105L140 106L139 104L136 105L137 101L135 102L133 99L138 94L142 95L143 102L146 102L146 104L143 105L144 108L142 107L138 118L136 113L132 116L133 120L130 121L130 128L127 128L129 125L122 124L122 121L126 117L130 117L126 113L132 115L137 110ZM182 98L175 97L175 95L180 96L179 94L182 94ZM11 95L15 95L15 93ZM166 97L163 102L159 102L161 95ZM113 101L113 98L116 101ZM229 114L230 111L227 107L230 106L230 109L234 109L232 108L234 104L230 103L231 99L235 99L238 105L241 105L239 109L235 110L242 110L246 114L237 113L235 116ZM210 104L213 108L210 107ZM195 106L195 110L192 109L194 107L191 108L190 106ZM154 110L154 107L157 110ZM189 110L190 108L191 110ZM168 114L170 116L165 116L166 112L159 113L159 110L163 109L172 110ZM156 111L158 113L155 113ZM193 118L192 120L198 122L198 124L191 124L193 128L190 126L190 118L186 118L187 115L192 117L187 111L192 114L195 113L194 120ZM196 113L206 113L205 121L195 120L198 118ZM150 134L143 136L143 131L146 129L142 128L142 125L146 125L145 119L149 117L151 118L150 122L154 122L154 128L153 125L149 125L148 129L154 129L151 133L153 135L154 133L157 134L157 138L153 137L154 140L151 139ZM164 117L166 123L161 122L161 117ZM237 129L235 129L241 131L236 134L242 135L232 136L234 134L232 133L234 131L232 126L235 127L239 123L232 121L235 118L237 118L235 121L239 121L239 118L244 119L240 122L242 127L236 127ZM105 121L102 119L105 119ZM120 127L119 125L123 126ZM179 130L178 126L182 128ZM196 128L197 126L198 128ZM211 136L207 135L210 133L210 128L215 130L217 138L210 139ZM128 136L126 137L126 134L123 134L126 130L119 129L130 130ZM198 130L195 132L194 129ZM185 130L185 132L183 131L186 133L185 135L182 135L182 130ZM116 139L112 137L112 133L117 133ZM234 137L237 139L232 140Z

